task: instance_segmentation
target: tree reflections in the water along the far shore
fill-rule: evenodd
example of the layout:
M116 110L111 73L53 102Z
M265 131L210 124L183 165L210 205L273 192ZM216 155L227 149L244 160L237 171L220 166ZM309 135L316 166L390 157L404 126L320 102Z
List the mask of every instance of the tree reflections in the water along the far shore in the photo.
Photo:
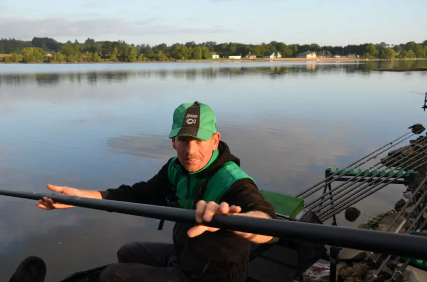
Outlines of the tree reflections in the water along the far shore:
M57 85L60 82L71 83L86 82L124 82L128 79L197 79L215 80L217 78L239 78L243 76L267 76L271 79L282 76L297 76L300 74L317 75L319 73L361 73L369 75L374 68L418 68L426 67L427 60L393 60L393 61L367 61L359 63L325 63L325 64L297 64L297 65L271 65L271 66L242 66L228 67L220 64L212 68L189 68L173 70L135 70L135 71L102 71L102 72L77 72L77 73L51 73L51 74L14 74L0 75L2 83L10 86L19 86L22 83L36 81L39 86Z

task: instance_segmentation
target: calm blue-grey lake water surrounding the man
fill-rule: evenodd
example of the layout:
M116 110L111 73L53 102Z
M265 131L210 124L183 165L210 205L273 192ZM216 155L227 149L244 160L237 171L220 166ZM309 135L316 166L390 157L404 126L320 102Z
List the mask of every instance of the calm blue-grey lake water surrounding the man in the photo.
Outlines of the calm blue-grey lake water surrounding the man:
M425 61L425 60L424 60ZM242 167L263 189L295 195L325 169L421 123L427 75L364 63L0 64L0 187L116 188L153 176L174 155L167 138L182 102L209 104ZM407 145L408 141L402 143ZM366 164L374 164L379 159ZM393 207L403 186L358 203L354 226ZM172 222L86 208L45 211L0 197L0 280L29 255L46 281L116 261L131 240L170 241Z

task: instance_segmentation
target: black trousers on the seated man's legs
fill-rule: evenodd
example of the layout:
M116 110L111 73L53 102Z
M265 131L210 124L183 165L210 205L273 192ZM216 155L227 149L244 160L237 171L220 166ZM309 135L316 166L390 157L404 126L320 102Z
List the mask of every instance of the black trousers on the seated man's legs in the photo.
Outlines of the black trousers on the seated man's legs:
M173 244L131 242L117 252L119 262L107 266L99 282L188 282L175 267Z

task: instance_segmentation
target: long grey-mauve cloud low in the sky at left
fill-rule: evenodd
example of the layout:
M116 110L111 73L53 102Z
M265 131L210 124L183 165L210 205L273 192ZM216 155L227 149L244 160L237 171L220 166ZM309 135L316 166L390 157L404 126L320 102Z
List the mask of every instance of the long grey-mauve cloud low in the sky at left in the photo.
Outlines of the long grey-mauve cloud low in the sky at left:
M3 37L30 39L33 37L96 37L105 35L144 36L206 34L227 31L222 27L188 28L157 25L159 18L130 22L122 19L81 19L68 18L25 19L0 17L0 34ZM29 29L28 27L31 27Z

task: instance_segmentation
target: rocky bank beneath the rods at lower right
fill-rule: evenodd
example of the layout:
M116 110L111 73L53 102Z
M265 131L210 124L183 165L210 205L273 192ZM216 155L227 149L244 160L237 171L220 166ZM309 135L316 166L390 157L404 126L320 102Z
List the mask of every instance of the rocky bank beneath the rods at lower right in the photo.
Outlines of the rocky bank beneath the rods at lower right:
M364 224L360 224L358 228L387 231L393 219L407 202L407 199L411 197L413 190L422 184L424 178L427 177L427 137L421 135L414 140L410 140L409 145L388 152L387 156L381 159L381 163L389 169L414 170L415 185L412 190L410 187L406 187L407 189L403 191L402 198L395 204L393 209L385 214L378 215ZM421 195L425 189L427 189L427 182L424 180L423 186L418 194ZM403 220L406 220L406 222L399 230L399 233L404 233L408 230L415 218L413 214L409 216L412 208L413 206L411 204L405 208L403 213L398 217L397 222L389 228L390 232L394 232ZM349 221L354 221L359 214L360 211L352 207L346 211L346 218ZM425 217L427 217L427 213L424 213L424 218ZM387 266L378 273L377 278L371 280L371 275L377 273L378 266L381 263L381 261L379 261L379 263L374 263L374 257L375 254L367 251L343 248L340 251L340 262L337 265L337 282L390 281L391 276L401 263L398 263L398 266L394 268L395 270L392 269L393 265L387 264ZM389 268L389 266L391 268ZM329 262L325 261L325 263L323 263L318 261L307 269L303 282L329 282L329 275ZM412 266L407 266L396 282L427 282L427 272Z

